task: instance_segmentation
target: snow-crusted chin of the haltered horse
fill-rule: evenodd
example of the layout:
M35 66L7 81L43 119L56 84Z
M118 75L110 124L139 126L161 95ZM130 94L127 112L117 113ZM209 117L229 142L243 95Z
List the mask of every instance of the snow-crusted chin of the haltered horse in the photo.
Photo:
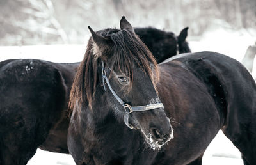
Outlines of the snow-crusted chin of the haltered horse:
M163 141L157 141L156 139L152 138L152 134L148 133L147 135L143 130L141 132L144 135L145 141L147 145L152 149L152 150L160 150L162 146L164 146L166 143L168 143L171 139L173 139L173 131L170 134L170 137L168 139L163 139Z

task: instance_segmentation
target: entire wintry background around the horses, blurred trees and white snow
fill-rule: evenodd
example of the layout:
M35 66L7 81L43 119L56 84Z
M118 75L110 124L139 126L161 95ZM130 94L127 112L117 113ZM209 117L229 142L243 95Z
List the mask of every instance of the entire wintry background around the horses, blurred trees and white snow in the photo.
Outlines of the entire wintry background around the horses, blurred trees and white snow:
M133 26L153 26L177 35L189 26L192 52L215 51L241 61L256 41L255 11L255 0L0 0L0 61L81 61L90 37L87 26L118 28L122 15ZM252 75L256 77L255 69ZM70 155L38 149L28 164L75 163ZM243 161L220 131L205 151L203 164Z

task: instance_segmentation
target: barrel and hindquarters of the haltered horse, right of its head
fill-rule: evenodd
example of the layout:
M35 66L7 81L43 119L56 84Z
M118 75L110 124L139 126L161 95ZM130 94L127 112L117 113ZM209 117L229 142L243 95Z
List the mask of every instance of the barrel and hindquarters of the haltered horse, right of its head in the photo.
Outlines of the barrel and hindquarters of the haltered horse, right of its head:
M167 116L174 120L174 138L160 151L155 164L201 159L219 129L254 164L255 150L249 145L255 145L256 88L246 68L214 52L182 54L160 68L159 97ZM246 97L237 95L238 91Z

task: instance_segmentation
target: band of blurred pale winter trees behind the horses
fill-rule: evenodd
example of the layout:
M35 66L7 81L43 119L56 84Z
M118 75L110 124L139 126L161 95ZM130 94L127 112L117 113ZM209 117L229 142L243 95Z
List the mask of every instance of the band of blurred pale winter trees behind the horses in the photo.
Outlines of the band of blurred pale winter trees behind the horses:
M255 29L255 0L1 0L0 44L84 43L87 26L118 27L122 15L133 26L154 26L189 35L225 27ZM254 30L255 31L255 30Z

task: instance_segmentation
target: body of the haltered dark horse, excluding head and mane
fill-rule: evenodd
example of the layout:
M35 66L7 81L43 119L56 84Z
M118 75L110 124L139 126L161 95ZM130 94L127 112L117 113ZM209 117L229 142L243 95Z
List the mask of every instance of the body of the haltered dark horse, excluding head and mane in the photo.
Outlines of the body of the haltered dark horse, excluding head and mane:
M97 125L100 129L94 132L95 128L86 127L78 133L74 141L84 145L74 148L72 156L80 155L86 164L193 164L196 159L200 160L196 164L201 164L204 151L222 129L241 151L244 162L256 162L252 147L256 145L256 86L246 68L215 52L182 54L159 67L157 90L166 115L172 119L174 138L161 150L152 150L140 132L120 124L115 110L110 110L113 114ZM104 97L102 101L111 100ZM102 110L99 107L98 111ZM87 122L96 120L86 113L81 115L77 122L81 125L84 118L90 120ZM71 134L77 135L76 130L84 128L81 125L71 125Z

